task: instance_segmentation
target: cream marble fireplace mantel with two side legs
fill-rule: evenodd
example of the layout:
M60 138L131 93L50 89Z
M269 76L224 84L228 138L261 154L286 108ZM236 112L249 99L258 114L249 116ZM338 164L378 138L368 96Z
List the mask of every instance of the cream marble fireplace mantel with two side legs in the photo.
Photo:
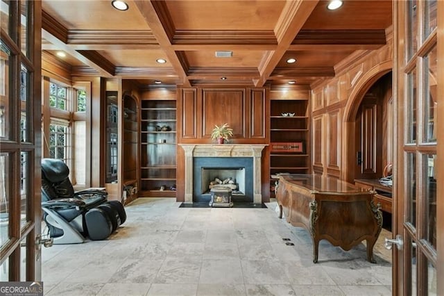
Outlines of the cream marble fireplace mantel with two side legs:
M252 157L253 203L262 203L261 170L264 144L179 144L185 151L185 203L193 203L194 157Z

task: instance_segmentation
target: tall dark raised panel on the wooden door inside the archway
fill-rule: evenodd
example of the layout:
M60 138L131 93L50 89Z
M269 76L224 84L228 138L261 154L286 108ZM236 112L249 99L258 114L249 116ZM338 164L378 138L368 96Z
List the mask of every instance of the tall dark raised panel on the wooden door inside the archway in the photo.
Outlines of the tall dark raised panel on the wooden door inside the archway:
M363 174L376 172L376 110L377 105L362 106L361 151Z

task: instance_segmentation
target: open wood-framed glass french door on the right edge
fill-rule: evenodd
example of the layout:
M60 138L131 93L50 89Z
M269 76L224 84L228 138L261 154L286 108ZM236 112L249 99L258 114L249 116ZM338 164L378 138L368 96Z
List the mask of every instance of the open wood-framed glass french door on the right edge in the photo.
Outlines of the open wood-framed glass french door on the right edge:
M393 14L393 294L444 295L444 1L393 1Z

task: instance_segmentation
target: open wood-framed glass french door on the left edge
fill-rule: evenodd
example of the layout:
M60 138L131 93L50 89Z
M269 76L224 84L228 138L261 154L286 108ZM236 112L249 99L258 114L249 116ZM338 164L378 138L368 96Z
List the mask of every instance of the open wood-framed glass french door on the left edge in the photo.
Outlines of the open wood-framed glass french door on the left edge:
M0 14L0 281L40 281L41 3Z

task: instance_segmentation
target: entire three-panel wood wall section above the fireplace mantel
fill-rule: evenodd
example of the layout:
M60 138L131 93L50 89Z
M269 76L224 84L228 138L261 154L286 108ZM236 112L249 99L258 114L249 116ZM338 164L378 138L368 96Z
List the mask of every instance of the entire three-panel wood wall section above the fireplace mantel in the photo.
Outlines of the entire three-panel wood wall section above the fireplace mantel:
M214 125L228 123L232 143L266 143L266 88L178 89L178 143L211 143Z

